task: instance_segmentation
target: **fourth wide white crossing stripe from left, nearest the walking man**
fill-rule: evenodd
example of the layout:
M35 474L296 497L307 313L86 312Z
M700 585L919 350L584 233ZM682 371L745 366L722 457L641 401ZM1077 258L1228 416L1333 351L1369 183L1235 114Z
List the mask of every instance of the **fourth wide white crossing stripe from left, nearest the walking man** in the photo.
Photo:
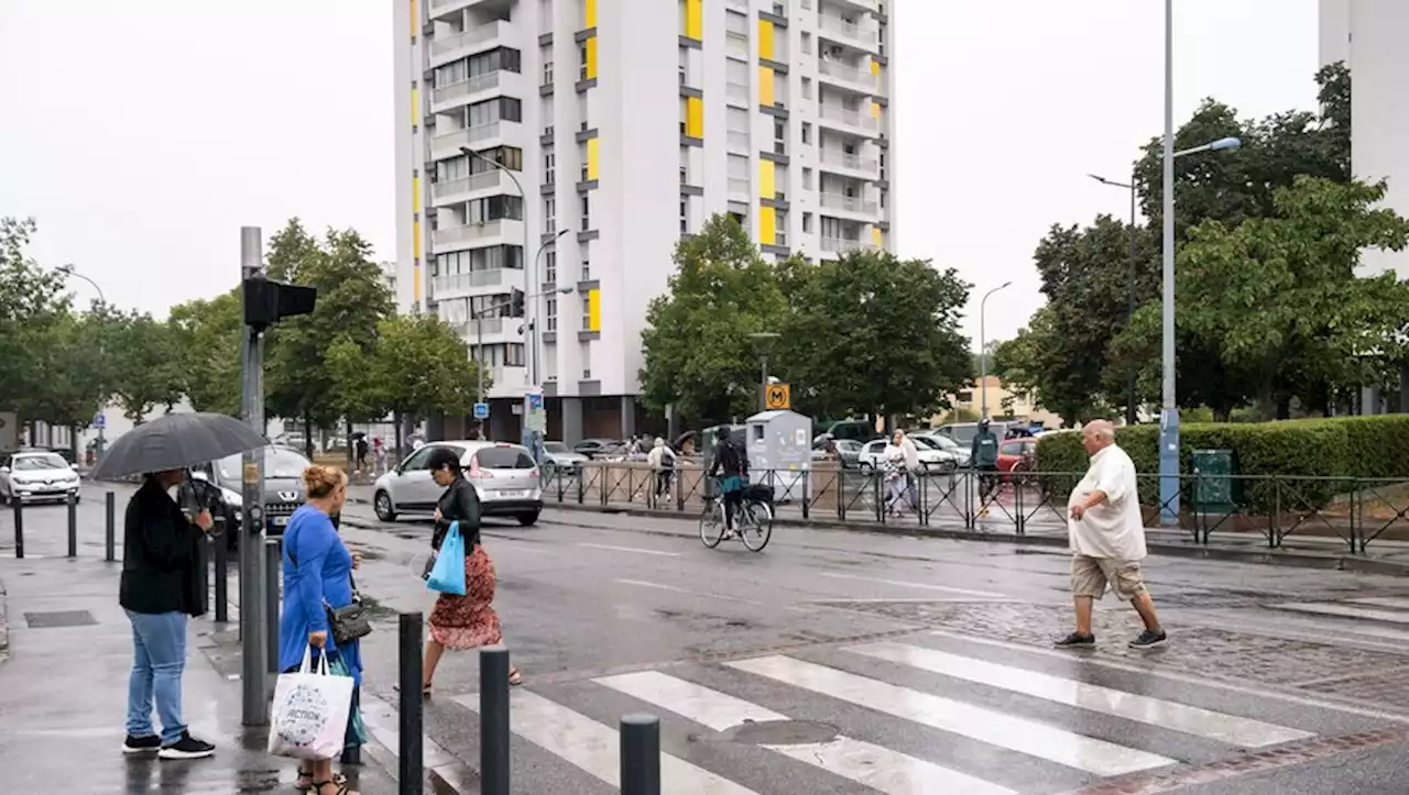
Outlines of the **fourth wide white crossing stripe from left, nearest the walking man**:
M847 651L1248 749L1313 736L1261 720L905 643L868 643L850 646Z

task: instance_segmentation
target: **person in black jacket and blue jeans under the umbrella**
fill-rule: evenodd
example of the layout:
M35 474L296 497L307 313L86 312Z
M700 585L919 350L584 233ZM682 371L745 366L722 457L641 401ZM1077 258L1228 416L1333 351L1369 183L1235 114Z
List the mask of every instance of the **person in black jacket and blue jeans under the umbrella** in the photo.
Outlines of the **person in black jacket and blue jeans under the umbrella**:
M132 671L127 680L127 739L123 753L161 758L203 758L216 746L197 740L182 719L186 621L200 615L196 595L201 538L214 526L210 511L182 512L172 498L185 470L151 473L127 502L123 518L123 575L118 604L132 623ZM152 729L152 702L162 722Z

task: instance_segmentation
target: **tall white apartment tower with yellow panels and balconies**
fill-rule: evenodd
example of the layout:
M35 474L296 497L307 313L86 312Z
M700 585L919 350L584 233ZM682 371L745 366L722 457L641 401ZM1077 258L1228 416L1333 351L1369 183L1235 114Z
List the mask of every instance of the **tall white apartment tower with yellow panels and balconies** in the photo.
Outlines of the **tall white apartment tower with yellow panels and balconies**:
M399 303L482 333L496 438L534 318L550 438L635 431L647 304L713 214L765 256L895 245L892 6L396 1Z

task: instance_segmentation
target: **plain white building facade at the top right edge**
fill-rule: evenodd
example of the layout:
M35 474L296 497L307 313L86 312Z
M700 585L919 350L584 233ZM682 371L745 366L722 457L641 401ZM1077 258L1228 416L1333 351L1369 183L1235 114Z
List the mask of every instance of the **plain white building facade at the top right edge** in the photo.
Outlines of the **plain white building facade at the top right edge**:
M1344 61L1351 79L1351 167L1389 180L1385 205L1409 217L1409 3L1320 0L1320 61ZM1409 252L1367 250L1367 274L1409 277Z

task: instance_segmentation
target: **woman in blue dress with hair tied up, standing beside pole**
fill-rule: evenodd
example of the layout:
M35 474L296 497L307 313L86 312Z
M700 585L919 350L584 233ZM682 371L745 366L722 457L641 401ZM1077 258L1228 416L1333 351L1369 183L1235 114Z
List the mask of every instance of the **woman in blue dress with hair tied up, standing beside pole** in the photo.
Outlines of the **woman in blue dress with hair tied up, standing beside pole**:
M334 674L352 677L352 709L348 713L345 747L366 742L358 692L362 685L359 643L338 644L328 626L328 611L352 604L352 570L361 556L348 552L333 516L342 511L348 497L348 476L337 467L310 466L303 470L307 498L283 530L283 616L279 619L279 668L297 671L304 651L311 646L328 656ZM356 795L347 788L347 777L333 772L333 760L317 760L299 768L294 785L316 795Z

